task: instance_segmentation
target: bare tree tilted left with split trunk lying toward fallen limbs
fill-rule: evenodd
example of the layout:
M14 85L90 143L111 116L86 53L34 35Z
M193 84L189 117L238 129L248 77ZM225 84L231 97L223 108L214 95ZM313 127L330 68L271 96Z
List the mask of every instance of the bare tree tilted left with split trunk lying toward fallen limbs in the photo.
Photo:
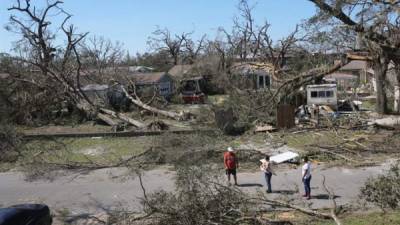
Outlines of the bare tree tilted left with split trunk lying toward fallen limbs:
M78 34L74 25L67 26L71 15L61 8L62 4L62 1L50 1L43 10L37 10L35 6L32 7L30 0L17 0L17 4L8 9L19 14L19 17L15 15L10 17L7 29L21 34L21 40L16 48L24 49L15 60L28 65L31 71L40 71L38 73L42 77L42 79L36 79L35 76L29 74L30 77L27 79L72 104L87 117L102 120L113 128L120 125L116 119L138 128L146 127L145 124L127 115L100 108L82 91L82 53L79 47L88 33ZM57 28L65 36L64 46L55 43L57 35L56 32L50 30L53 24L49 21L50 12L55 15L65 15L62 24ZM56 87L48 85L49 83ZM136 102L141 104L141 102ZM143 106L146 107L146 105Z

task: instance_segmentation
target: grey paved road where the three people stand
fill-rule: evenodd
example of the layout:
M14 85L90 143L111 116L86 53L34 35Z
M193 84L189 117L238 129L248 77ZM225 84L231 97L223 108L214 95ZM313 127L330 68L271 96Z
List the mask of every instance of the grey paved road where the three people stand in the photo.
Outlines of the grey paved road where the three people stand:
M309 201L313 208L328 207L330 201L322 189L322 176L327 177L327 185L334 189L339 204L353 203L357 200L358 190L369 176L379 174L387 164L358 169L328 168L314 166L311 181L314 199ZM18 172L0 173L0 204L3 206L43 202L51 208L68 208L72 213L79 211L97 213L101 207L116 207L140 210L138 198L142 191L138 180L112 180L111 177L121 174L121 169L104 169L81 175L73 180L63 177L53 182L26 182ZM278 169L278 176L272 178L273 189L279 193L272 197L290 196L302 201L297 190L303 190L300 179L300 168ZM145 173L144 183L148 192L159 189L171 191L174 188L172 172L153 170ZM239 188L246 192L264 191L264 180L261 172L238 174Z

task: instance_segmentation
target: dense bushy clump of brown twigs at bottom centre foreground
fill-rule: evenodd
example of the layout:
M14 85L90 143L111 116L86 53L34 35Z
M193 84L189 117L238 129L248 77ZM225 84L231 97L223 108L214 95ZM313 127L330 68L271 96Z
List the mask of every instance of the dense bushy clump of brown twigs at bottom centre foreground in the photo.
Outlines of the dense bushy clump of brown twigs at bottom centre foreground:
M152 224L234 224L248 208L244 195L216 183L207 168L177 170L176 194L160 191L142 200ZM160 219L157 219L160 217Z

